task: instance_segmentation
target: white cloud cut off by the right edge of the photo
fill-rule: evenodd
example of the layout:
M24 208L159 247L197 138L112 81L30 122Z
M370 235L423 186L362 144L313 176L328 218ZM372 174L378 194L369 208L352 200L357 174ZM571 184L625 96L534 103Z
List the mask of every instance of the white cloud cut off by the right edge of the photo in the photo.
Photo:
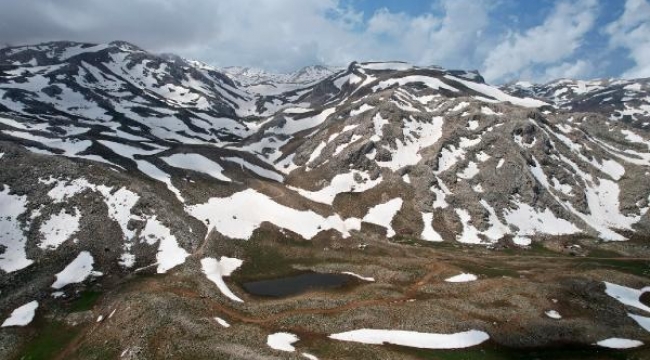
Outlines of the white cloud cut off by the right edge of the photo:
M650 3L645 0L627 0L623 15L609 24L606 32L610 45L626 48L635 62L623 76L650 77Z

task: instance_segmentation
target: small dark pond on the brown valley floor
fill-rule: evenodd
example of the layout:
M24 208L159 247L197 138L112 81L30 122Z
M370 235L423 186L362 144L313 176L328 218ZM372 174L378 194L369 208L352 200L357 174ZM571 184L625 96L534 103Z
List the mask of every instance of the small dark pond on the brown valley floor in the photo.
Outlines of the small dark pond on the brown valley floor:
M312 290L340 288L352 280L351 276L345 274L307 272L277 279L251 281L242 286L253 295L286 297Z

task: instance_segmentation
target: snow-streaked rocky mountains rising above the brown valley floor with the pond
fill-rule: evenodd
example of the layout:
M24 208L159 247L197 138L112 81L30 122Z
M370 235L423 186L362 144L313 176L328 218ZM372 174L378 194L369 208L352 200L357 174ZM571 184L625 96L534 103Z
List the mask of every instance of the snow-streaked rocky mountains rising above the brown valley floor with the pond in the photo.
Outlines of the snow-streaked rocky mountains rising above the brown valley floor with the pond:
M647 80L225 70L124 42L0 50L0 314L268 229L355 246L650 232Z

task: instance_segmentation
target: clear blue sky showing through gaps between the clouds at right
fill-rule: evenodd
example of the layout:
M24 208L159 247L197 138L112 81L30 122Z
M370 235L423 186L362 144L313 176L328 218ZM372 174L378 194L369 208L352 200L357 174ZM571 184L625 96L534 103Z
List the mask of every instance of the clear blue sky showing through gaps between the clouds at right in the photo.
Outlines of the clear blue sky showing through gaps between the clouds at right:
M485 10L489 16L489 23L482 28L484 41L495 42L495 39L503 38L509 33L525 33L528 29L540 26L546 19L554 15L554 11L562 3L562 1L558 0L499 0L487 2ZM577 5L577 8L594 14L592 26L581 36L578 47L562 56L561 63L558 61L550 63L533 62L517 73L490 80L504 82L521 77L536 81L551 80L555 74L558 76L563 75L561 71L551 74L544 73L545 70L553 67L552 64L571 64L580 60L588 61L589 66L585 66L580 71L568 71L567 76L582 78L619 77L635 66L635 61L630 58L629 51L610 43L610 36L606 32L606 27L609 24L616 22L623 16L626 8L625 0L599 0L594 2L595 6L593 7L590 6L589 2L583 2L582 4L579 1L564 3ZM643 6L644 1L629 1L629 3L628 7L647 7L647 5ZM381 9L387 9L392 13L404 13L411 17L421 16L424 13L430 13L437 18L444 18L446 15L444 1L345 0L342 2L342 6L349 6L362 11L365 22L369 21ZM647 26L647 22L645 26ZM648 28L646 40L648 38L650 38L650 28ZM534 41L534 38L531 38L531 41ZM435 46L435 44L431 45ZM481 63L481 60L479 58L470 62L470 67L486 70L485 64ZM454 67L454 62L452 60L439 65ZM642 75L650 76L650 73Z

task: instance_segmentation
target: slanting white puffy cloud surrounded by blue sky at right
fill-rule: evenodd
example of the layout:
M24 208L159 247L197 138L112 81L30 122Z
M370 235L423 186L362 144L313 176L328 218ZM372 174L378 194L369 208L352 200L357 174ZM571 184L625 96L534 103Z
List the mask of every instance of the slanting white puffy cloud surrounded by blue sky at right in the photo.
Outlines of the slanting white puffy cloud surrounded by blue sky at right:
M497 45L483 64L484 76L507 80L534 72L535 66L557 66L570 58L592 29L597 5L596 0L559 2L541 25L511 33Z

